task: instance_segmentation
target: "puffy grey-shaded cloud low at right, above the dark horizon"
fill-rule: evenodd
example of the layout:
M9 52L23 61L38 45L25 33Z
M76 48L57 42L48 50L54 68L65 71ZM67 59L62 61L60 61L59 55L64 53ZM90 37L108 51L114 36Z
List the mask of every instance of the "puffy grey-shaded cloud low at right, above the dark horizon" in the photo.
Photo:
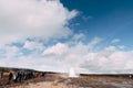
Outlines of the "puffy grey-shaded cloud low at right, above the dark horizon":
M109 46L106 48L98 53L89 53L89 55L85 56L86 61L84 61L84 63L82 63L80 66L91 73L131 73L127 70L132 70L132 51L117 51L114 50L116 48L115 46ZM127 66L129 64L130 66Z

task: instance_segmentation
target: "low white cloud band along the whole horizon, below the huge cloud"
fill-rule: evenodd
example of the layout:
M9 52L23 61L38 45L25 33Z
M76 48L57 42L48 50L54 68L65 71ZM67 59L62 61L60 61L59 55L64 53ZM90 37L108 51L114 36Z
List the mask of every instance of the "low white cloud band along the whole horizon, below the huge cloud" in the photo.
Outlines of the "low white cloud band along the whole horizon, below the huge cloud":
M0 53L4 53L7 57L0 56L0 65L7 66L7 62L10 62L8 63L10 67L65 73L69 68L73 67L78 73L86 74L122 74L133 72L132 51L121 51L117 46L113 45L105 46L98 52L90 51L90 48L95 50L95 46L99 46L100 41L98 38L94 37L88 44L78 42L72 46L69 43L58 42L49 47L43 46L41 53L31 53L27 56L21 55L21 50L18 50L16 46L7 46L7 50L1 48L4 52L1 51ZM32 45L37 45L37 47ZM21 48L40 50L40 46L42 47L41 42L27 41ZM9 48L13 52L10 52ZM18 56L18 54L20 55Z

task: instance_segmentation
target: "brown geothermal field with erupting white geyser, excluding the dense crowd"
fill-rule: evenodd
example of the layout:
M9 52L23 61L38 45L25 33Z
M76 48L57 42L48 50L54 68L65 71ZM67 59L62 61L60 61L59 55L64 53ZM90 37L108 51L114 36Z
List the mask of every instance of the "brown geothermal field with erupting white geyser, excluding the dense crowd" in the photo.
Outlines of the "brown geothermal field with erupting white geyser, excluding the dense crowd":
M9 79L9 70L32 72L33 77L21 81ZM0 88L133 88L132 74L116 75L86 75L75 76L71 70L69 74L44 73L27 69L2 69L3 76L0 78Z

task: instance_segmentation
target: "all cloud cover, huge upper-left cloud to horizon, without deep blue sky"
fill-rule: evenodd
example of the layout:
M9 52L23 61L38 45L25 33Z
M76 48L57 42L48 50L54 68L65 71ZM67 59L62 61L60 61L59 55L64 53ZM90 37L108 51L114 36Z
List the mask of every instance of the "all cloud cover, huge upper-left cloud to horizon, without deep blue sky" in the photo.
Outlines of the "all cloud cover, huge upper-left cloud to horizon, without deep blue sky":
M133 52L114 44L121 40L94 51L102 38L83 43L83 33L72 33L68 25L78 11L69 11L59 0L0 0L0 66L48 72L73 67L88 74L129 73L133 68ZM57 41L70 34L69 42ZM51 38L55 43L45 45Z

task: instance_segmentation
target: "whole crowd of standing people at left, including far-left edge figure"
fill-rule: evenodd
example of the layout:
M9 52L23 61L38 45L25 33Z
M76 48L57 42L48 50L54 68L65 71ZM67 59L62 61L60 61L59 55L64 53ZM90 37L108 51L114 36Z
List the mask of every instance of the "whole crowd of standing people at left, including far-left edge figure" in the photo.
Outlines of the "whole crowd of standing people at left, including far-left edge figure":
M35 77L43 77L45 73L35 73L32 70L9 70L8 73L0 72L0 85L3 85L1 80L7 77L7 85L12 84L12 82L23 82L24 80L32 79Z

